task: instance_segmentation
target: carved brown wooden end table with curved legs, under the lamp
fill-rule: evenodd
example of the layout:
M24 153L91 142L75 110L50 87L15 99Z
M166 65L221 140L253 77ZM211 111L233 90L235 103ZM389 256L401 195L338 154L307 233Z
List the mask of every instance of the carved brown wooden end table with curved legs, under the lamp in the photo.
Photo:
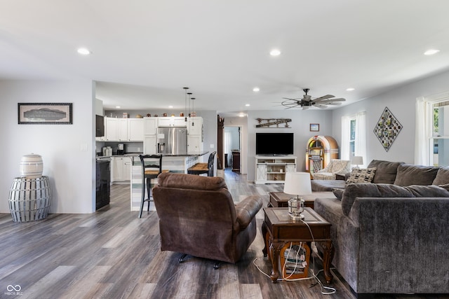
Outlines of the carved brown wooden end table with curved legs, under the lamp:
M279 251L283 246L289 242L307 242L309 246L310 242L317 242L323 247L323 270L329 284L333 279L330 262L334 253L330 239L330 223L309 207L306 207L302 214L310 230L302 221L293 221L288 216L288 208L264 208L262 235L265 247L262 252L272 260L273 270L270 279L276 283L279 277Z

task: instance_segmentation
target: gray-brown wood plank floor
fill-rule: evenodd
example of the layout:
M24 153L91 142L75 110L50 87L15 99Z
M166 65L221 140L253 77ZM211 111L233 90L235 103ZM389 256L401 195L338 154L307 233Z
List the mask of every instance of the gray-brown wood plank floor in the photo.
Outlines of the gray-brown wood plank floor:
M233 172L225 178L235 201L262 195L267 202L268 192L282 190L247 183ZM177 263L180 253L159 249L156 212L145 211L139 219L138 211L129 211L129 194L128 185L112 186L111 204L95 214L50 214L30 223L0 214L0 298L355 298L337 272L336 293L322 295L312 281L272 284L257 270L255 265L269 273L271 265L262 255L262 211L255 242L236 265L213 270L213 261L194 257Z

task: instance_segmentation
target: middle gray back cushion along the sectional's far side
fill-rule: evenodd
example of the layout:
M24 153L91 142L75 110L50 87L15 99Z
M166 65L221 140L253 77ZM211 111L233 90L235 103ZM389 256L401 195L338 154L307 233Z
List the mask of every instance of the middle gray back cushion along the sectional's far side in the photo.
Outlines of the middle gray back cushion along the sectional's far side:
M394 185L431 185L434 182L438 167L404 164L398 166Z

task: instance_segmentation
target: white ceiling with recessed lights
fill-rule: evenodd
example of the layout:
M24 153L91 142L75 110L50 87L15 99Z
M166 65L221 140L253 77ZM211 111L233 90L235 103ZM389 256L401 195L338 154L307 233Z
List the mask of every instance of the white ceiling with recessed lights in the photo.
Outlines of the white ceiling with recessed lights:
M95 80L105 109L182 111L185 86L196 110L228 116L283 109L282 97L301 97L302 88L349 104L449 69L445 0L0 0L0 7L0 80ZM78 55L81 46L92 54ZM270 56L273 48L281 55ZM423 55L429 48L441 52Z

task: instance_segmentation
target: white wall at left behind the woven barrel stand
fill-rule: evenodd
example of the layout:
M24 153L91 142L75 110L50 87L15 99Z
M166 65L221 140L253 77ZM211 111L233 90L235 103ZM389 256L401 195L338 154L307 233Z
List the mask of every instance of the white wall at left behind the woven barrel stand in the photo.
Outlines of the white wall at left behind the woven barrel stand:
M27 153L42 156L51 213L95 211L94 90L91 81L0 81L1 213L10 212L8 193ZM18 125L19 102L73 103L73 125ZM88 151L80 151L81 145Z

